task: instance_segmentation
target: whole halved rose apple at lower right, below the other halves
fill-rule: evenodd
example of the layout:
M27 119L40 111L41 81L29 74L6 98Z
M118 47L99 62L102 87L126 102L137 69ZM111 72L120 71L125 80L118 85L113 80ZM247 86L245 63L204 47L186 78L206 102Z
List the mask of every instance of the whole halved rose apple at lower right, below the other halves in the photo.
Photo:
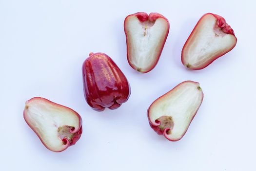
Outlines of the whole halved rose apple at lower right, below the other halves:
M149 124L159 135L178 141L186 133L203 100L197 82L185 81L159 97L148 109Z

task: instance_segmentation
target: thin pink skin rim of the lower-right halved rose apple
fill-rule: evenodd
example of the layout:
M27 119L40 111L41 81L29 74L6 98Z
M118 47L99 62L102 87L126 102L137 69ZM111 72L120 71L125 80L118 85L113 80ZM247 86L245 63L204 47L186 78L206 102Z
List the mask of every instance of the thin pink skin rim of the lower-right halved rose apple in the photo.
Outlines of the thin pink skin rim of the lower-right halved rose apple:
M197 82L193 82L193 81L184 81L184 82L182 82L182 83L176 85L173 89L175 89L175 88L177 88L179 85L181 85L181 84L183 84L183 83L187 83L187 82L191 82L191 83L193 83L193 84L197 84ZM173 89L171 89L170 91L168 91L168 92L165 93L164 95L158 97L158 98L149 106L149 108L148 108L148 110L147 110L147 117L148 117L148 120L149 120L149 125L150 125L150 127L151 127L152 129L154 129L154 130L158 133L158 135L163 135L163 136L164 136L167 140L169 140L169 141L179 141L179 140L180 140L181 138L183 138L183 136L186 134L186 132L187 132L187 130L188 130L188 128L189 128L191 122L193 121L194 117L195 117L196 114L197 114L197 111L198 111L199 107L200 107L201 104L202 104L202 101L203 101L203 91L201 91L201 92L202 92L201 104L197 107L197 110L196 110L194 116L192 117L192 119L191 119L189 125L187 126L185 132L181 135L181 137L180 137L179 139L172 140L172 139L169 139L169 138L168 138L168 134L167 134L167 132L168 132L168 130L170 130L170 128L165 128L165 129L163 129L163 130L161 130L160 128L158 128L158 126L159 126L161 123L160 123L160 122L156 123L156 121L151 121L149 109L150 109L150 107L151 107L156 101L158 101L158 100L161 99L163 96L165 96L166 94L168 94L169 92L171 92Z

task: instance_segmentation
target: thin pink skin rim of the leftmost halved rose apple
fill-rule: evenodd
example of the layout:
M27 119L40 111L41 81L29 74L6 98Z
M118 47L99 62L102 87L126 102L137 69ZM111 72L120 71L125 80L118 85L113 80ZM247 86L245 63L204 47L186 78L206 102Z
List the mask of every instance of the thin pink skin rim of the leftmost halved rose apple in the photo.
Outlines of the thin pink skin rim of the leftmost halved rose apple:
M45 99L45 98L42 98L42 97L33 97L31 98L30 100L28 100L27 102L29 101L33 101L34 99L41 99L41 100L44 100L46 101L47 103L51 103L52 105L55 105L55 106L59 106L59 107L64 107L66 109L70 109L72 110L78 117L79 117L79 129L77 131L72 131L70 130L71 133L74 133L72 139L71 139L71 142L67 139L67 138L63 138L62 141L65 142L66 144L64 145L64 149L60 150L60 151L54 151L52 149L49 149L43 142L43 140L41 139L41 137L39 136L39 134L33 129L33 127L26 121L26 117L25 117L25 110L23 110L23 118L25 120L25 122L27 123L27 125L37 134L37 136L39 137L40 141L42 142L42 144L48 149L48 150L51 150L51 151L54 151L54 152L61 152L63 150L66 150L69 146L73 146L76 144L76 142L79 140L79 138L81 137L81 134L82 134L82 118L81 116L73 109L69 108L69 107L65 107L65 106L62 106L62 105L59 105L57 103L54 103L52 101L49 101L48 99Z

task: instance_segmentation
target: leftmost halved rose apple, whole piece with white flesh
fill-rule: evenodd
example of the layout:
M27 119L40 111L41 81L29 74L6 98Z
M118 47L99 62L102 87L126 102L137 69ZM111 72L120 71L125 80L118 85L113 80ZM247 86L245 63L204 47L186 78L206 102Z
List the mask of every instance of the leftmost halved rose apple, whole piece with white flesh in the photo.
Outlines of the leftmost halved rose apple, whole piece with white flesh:
M26 101L23 114L26 123L49 150L63 151L81 136L82 120L79 114L47 99L35 97Z

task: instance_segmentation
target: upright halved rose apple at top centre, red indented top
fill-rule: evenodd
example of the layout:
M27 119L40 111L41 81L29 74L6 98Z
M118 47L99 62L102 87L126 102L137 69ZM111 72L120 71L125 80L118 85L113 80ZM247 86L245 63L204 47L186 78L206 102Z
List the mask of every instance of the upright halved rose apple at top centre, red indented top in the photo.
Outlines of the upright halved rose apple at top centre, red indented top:
M158 13L138 12L124 21L127 59L137 71L146 73L158 63L169 33L169 21Z

